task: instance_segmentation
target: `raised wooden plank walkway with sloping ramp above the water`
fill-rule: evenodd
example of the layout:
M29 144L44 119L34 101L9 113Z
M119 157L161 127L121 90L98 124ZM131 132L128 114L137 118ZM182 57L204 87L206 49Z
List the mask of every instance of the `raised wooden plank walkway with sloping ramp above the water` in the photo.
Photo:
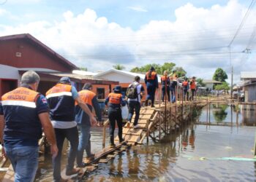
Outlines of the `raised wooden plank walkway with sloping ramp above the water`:
M142 107L140 109L140 117L138 120L139 127L134 128L133 123L135 119L135 114L132 116L132 122L130 126L128 127L127 124L123 127L123 138L124 141L126 141L127 146L122 145L123 143L119 143L118 136L115 138L116 147L110 148L105 147L101 151L97 152L95 155L95 158L91 161L88 161L86 158L83 159L83 161L86 163L86 167L80 170L80 174L78 175L72 175L72 176L66 176L64 175L65 170L62 170L61 175L63 178L68 179L69 181L77 181L83 178L87 173L97 169L97 165L100 162L107 163L110 159L113 159L116 157L116 154L126 151L129 149L130 146L136 145L136 144L142 144L144 139L148 137L151 137L151 133L154 133L155 130L159 130L159 136L158 141L161 139L162 133L165 132L165 125L163 125L164 119L167 116L167 120L170 121L167 125L168 130L171 128L175 129L176 127L179 127L181 125L181 122L184 118L189 118L189 114L191 112L192 106L195 106L197 101L187 101L187 102L181 102L177 101L176 104L167 105L165 108L165 105L155 105L156 107ZM199 104L203 105L203 104ZM165 110L167 111L167 114L165 113ZM105 122L105 127L108 124L108 122ZM167 132L166 132L167 133ZM103 138L105 138L105 128L103 128ZM157 137L156 137L157 138ZM42 140L43 141L43 140ZM103 142L105 143L105 142ZM41 144L42 145L42 144ZM14 173L12 169L9 168L6 175L4 176L4 180L13 180Z

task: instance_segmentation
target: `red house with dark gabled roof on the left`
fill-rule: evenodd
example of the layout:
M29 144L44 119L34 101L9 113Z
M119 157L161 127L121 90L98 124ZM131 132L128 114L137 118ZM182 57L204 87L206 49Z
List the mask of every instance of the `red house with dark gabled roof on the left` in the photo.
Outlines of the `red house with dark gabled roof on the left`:
M72 74L73 70L78 70L77 66L29 33L1 36L0 96L18 87L21 75L28 70L34 70L39 74L40 82L37 91L42 94L53 87L61 76L69 76L78 90L84 83L91 82L99 98L105 98L102 90L111 90L112 84L118 84L105 79L94 79L92 75Z

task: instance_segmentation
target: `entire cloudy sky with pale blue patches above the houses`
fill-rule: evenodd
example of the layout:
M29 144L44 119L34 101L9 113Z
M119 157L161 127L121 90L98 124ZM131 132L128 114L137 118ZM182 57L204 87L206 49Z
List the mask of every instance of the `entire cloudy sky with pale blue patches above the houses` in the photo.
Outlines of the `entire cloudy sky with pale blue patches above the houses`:
M30 33L89 71L106 71L117 63L129 71L173 62L187 76L211 79L222 68L230 79L233 66L236 82L241 71L256 70L256 7L251 3L0 0L0 36Z

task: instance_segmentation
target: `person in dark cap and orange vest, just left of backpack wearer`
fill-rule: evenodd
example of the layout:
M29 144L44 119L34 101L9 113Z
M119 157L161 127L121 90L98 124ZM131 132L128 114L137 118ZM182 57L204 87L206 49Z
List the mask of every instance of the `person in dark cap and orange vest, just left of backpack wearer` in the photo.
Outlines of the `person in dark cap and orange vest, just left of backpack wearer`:
M108 106L109 103L109 106ZM114 147L114 131L116 127L116 122L118 126L118 138L119 142L123 142L123 126L122 126L122 117L121 117L121 106L125 106L126 101L122 98L121 95L121 86L117 85L114 88L114 92L111 92L108 95L108 98L105 100L105 106L108 106L108 119L110 122L110 147Z

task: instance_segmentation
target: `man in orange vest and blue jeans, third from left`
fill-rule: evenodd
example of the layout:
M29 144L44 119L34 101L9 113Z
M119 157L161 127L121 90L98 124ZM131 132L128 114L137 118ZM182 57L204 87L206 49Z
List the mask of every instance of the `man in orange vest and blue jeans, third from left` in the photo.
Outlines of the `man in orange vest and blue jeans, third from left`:
M83 90L78 92L83 103L86 103L90 111L94 108L97 115L97 120L102 125L102 113L97 100L97 95L91 91L91 83L86 83L83 86ZM82 108L76 103L75 106L75 121L78 123L78 128L80 130L79 144L78 144L78 154L77 154L77 165L78 167L84 167L83 163L83 151L86 150L87 158L93 158L95 154L91 154L91 122L88 114L86 114Z

